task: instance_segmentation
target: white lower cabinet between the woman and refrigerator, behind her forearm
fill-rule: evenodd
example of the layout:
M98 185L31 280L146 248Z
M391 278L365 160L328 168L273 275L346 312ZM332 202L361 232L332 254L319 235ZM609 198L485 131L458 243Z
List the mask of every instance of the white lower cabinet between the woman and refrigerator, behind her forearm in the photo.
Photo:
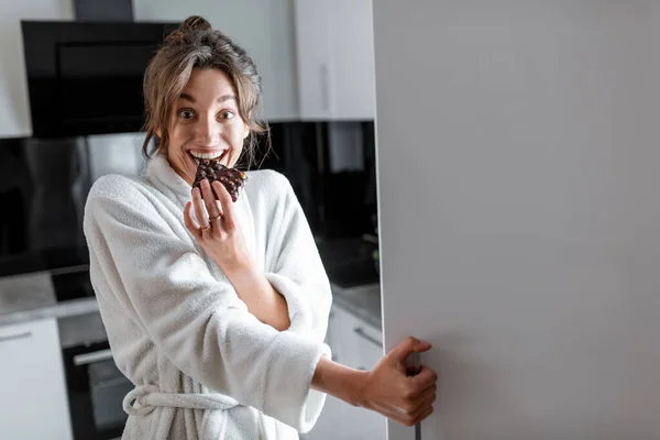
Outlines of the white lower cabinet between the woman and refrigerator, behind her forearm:
M359 295L359 294L356 294ZM370 370L383 356L380 329L333 306L328 324L327 343L332 358L346 366ZM386 419L377 413L354 407L328 396L323 413L305 440L384 439Z

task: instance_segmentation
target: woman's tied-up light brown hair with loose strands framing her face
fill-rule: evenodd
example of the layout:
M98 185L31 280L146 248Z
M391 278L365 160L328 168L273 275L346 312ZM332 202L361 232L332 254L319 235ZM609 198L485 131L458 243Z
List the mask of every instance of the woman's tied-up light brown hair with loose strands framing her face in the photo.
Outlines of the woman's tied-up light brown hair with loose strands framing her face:
M153 153L162 153L161 148L167 147L174 103L188 84L195 67L217 68L231 80L237 91L239 114L250 128L243 151L249 154L249 164L253 164L257 147L256 135L268 134L267 124L253 118L253 110L260 103L262 92L256 66L242 47L222 32L213 30L207 20L198 15L189 16L167 35L146 67L143 82L143 130L146 132L142 145L144 156L151 158ZM150 151L152 140L154 147ZM270 148L270 136L267 145Z

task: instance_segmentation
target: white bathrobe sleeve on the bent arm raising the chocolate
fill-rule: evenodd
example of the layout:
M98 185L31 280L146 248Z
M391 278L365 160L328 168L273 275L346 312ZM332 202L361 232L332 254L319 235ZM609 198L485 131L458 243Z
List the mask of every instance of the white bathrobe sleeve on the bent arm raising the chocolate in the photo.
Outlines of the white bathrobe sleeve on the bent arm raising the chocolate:
M282 174L268 174L277 202L268 222L265 276L286 298L289 330L321 342L332 304L330 282L292 185Z

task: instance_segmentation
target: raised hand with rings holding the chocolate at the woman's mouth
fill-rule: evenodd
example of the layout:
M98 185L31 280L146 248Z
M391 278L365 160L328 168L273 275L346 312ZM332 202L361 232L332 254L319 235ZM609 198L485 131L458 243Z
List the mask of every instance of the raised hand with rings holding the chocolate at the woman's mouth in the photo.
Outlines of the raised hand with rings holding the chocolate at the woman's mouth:
M204 179L200 188L193 188L193 201L186 204L184 222L206 253L231 278L230 274L249 270L252 264L234 216L231 196L219 182L209 185ZM216 200L213 193L219 200ZM193 209L199 224L193 219Z

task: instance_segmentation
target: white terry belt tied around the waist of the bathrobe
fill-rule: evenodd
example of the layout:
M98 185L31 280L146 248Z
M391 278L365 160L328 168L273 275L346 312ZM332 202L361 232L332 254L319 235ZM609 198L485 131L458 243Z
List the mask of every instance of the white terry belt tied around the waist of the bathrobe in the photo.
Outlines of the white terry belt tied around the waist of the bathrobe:
M227 410L240 405L223 394L162 393L156 385L139 385L123 399L123 410L130 416L145 416L158 406Z

